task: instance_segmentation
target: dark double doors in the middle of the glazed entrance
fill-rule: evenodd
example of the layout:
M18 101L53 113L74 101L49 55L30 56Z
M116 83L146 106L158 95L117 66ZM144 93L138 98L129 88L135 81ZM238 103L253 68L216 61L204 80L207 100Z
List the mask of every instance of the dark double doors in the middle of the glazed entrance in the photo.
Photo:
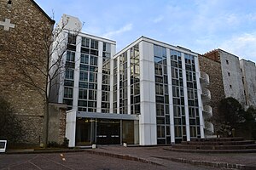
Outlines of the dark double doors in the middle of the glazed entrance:
M96 144L120 144L120 121L98 119Z

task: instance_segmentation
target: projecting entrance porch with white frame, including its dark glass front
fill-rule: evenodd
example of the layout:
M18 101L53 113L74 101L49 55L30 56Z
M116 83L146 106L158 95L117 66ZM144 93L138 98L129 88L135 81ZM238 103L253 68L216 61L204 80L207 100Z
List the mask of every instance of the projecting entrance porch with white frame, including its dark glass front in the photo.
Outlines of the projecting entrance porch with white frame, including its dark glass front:
M139 116L67 111L69 147L89 144L138 144Z

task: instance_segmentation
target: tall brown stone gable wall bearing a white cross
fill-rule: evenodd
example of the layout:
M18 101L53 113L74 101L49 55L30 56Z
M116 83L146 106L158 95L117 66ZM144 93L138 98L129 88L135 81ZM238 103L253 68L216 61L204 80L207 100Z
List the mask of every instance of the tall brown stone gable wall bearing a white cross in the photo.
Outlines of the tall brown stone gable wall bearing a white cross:
M32 0L0 1L0 95L22 120L23 143L39 144L43 139L47 38L54 24Z

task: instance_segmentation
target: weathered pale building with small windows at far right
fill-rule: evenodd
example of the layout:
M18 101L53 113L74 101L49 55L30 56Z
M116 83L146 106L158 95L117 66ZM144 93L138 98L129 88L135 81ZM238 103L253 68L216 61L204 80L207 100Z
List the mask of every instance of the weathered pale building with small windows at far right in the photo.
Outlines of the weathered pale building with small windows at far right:
M206 70L212 72L214 77L221 79L218 82L220 83L221 81L223 83L224 97L237 99L245 108L249 105L256 106L255 63L245 59L239 60L236 55L230 54L222 49L212 50L204 54L204 57L213 59L219 63L218 67L206 67ZM202 67L202 69L204 68ZM210 80L211 82L213 81L212 78ZM214 87L216 86L214 82ZM221 92L221 89L217 87L216 90L218 93Z

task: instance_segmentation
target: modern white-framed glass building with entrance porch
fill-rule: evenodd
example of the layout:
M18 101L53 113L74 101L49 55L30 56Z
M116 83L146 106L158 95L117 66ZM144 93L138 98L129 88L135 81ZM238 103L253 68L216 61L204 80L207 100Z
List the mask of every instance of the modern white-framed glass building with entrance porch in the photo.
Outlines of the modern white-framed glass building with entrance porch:
M196 53L140 37L115 54L111 40L67 35L59 102L69 110L69 146L172 144L204 138Z

